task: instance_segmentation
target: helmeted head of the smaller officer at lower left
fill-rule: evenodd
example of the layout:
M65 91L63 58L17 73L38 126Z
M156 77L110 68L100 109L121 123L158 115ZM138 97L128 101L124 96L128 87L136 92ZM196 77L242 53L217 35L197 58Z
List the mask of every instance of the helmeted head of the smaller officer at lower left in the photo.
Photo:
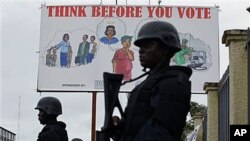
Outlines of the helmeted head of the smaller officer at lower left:
M55 97L41 98L36 110L39 110L38 120L41 124L46 124L49 120L55 120L58 115L62 114L61 102Z

